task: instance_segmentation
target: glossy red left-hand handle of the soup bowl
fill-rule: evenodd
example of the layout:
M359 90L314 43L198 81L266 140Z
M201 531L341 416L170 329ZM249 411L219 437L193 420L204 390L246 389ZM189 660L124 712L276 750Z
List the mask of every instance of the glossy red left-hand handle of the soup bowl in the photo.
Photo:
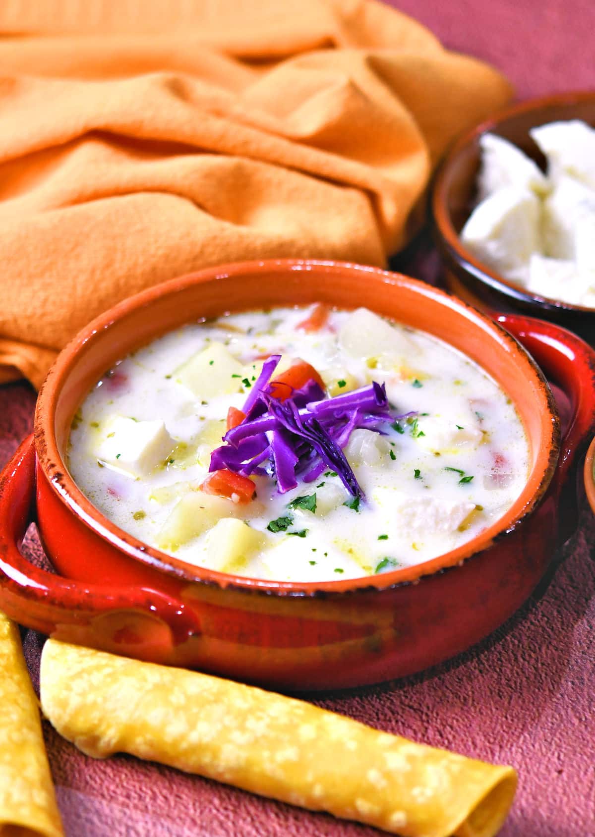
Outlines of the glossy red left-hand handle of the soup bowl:
M0 476L0 608L11 619L56 639L157 662L200 633L194 613L168 594L77 582L23 558L18 547L33 520L34 488L29 436Z

